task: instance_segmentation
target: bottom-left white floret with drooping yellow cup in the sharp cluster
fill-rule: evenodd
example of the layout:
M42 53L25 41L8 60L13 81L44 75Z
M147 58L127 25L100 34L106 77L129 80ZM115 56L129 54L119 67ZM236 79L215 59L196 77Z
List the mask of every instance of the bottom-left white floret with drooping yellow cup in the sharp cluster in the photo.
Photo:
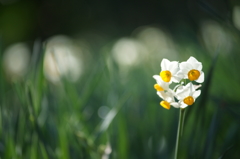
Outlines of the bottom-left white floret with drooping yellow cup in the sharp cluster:
M163 99L160 102L160 105L165 109L170 109L171 105L175 108L179 108L179 103L175 102L174 92L172 90L168 90L168 92L158 91L158 96Z

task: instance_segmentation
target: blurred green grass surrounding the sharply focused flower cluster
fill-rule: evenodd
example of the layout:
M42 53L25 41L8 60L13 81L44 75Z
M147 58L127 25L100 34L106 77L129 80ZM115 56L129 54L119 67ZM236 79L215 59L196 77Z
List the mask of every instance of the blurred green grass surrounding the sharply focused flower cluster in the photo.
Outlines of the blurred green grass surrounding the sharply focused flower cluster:
M152 61L148 54L140 64L123 67L112 60L112 43L94 48L100 51L76 83L46 80L42 44L23 79L11 82L1 69L1 158L173 157L179 110L159 106L152 78L164 57ZM234 45L213 63L206 50L186 42L178 46L178 58L170 59L195 56L206 75L201 99L187 108L181 158L239 156L238 51ZM103 117L102 106L108 108Z

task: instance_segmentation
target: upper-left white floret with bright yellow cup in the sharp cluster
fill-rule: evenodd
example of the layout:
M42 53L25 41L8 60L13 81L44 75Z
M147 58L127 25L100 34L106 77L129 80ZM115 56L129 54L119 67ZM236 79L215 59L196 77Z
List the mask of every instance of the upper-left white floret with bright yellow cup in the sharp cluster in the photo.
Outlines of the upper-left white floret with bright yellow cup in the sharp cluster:
M160 77L164 82L179 82L181 77L177 76L179 67L177 61L170 62L167 59L163 59L161 62Z

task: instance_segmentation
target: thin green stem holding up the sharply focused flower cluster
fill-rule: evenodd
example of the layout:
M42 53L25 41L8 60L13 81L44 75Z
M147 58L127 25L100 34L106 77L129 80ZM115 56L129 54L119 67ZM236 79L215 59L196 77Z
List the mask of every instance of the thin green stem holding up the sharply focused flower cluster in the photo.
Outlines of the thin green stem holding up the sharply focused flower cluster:
M177 140L176 140L176 150L175 150L175 157L174 159L178 159L179 154L179 145L181 142L182 132L183 132L183 125L184 125L184 117L185 117L185 109L180 108L179 113L179 121L178 121L178 131L177 131Z

